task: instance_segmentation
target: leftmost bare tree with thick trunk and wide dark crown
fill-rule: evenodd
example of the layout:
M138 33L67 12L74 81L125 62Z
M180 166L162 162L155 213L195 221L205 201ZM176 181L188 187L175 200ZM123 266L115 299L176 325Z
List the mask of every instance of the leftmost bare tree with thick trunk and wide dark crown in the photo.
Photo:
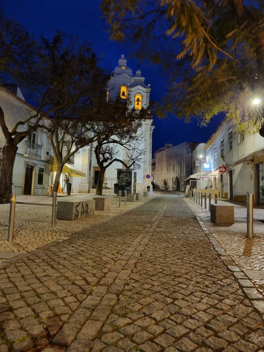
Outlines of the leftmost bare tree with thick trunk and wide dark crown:
M2 35L10 37L10 42L13 43L12 40L15 41L17 38L19 29L19 25L2 26L1 31ZM6 33L8 30L10 32ZM27 38L26 32L25 38ZM32 45L34 45L33 42ZM59 131L65 126L66 131L72 129L73 133L76 129L83 128L88 120L95 119L93 109L100 103L99 97L105 96L105 87L109 79L109 75L99 68L98 60L90 46L80 43L77 38L65 38L61 33L57 33L51 42L42 38L41 45L33 52L36 56L34 59L30 58L29 64L25 65L21 75L15 74L17 71L14 70L13 63L13 56L19 55L19 50L18 54L14 51L11 56L8 56L8 50L1 51L0 62L3 63L1 72L11 72L23 87L30 88L30 98L36 108L25 104L27 117L17 121L10 128L6 124L0 107L0 126L6 141L0 165L0 203L10 201L18 144L37 128L48 130L52 136L55 134L58 136ZM19 60L18 57L17 61ZM48 124L52 127L44 123L47 117L49 121L53 121L52 124ZM78 126L78 128L77 118L81 120L81 127ZM78 136L80 137L77 133L74 141ZM55 155L58 154L55 153Z

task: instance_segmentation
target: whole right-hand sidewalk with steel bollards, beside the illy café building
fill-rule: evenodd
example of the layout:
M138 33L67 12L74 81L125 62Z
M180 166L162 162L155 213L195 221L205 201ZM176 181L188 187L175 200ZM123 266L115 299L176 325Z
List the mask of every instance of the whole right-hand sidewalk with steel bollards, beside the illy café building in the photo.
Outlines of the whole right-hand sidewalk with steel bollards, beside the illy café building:
M218 244L225 250L240 270L243 270L252 284L264 294L264 209L254 209L253 230L254 238L246 238L246 207L227 201L218 200L218 204L229 204L234 206L233 225L215 224L210 220L207 209L196 204L189 198L184 198L196 216L199 216L203 224L212 233ZM214 203L214 200L212 201Z

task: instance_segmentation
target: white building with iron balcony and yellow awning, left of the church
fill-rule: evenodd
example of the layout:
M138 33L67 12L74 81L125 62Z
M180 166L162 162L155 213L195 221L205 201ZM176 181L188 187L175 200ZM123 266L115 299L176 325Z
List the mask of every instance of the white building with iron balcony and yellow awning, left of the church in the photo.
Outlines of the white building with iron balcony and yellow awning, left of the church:
M7 89L8 88L8 89ZM30 118L34 108L29 105L16 85L0 88L0 106L9 130L19 121ZM32 121L32 122L31 122ZM33 124L33 120L28 124ZM27 130L28 124L20 125L19 131ZM0 129L0 162L5 137ZM66 146L64 147L66 152ZM82 148L65 164L60 179L59 191L63 190L65 174L72 182L71 193L88 192L89 147ZM82 171L83 170L83 171ZM31 133L18 144L13 169L12 192L17 195L44 195L51 193L56 175L56 162L53 157L50 138L42 129ZM0 180L1 182L1 180Z

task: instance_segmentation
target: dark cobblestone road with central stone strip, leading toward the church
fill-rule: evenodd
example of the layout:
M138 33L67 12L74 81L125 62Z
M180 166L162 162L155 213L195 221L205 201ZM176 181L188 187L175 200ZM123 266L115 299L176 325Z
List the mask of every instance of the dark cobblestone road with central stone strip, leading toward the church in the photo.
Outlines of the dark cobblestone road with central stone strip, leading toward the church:
M157 196L2 263L0 352L263 352L262 297L201 225Z

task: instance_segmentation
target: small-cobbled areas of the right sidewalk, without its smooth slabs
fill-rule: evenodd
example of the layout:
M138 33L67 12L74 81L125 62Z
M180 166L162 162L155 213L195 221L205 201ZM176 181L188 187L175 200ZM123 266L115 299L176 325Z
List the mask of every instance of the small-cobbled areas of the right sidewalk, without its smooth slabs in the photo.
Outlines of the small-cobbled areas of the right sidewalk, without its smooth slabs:
M208 212L208 209L206 210L200 207L188 198L185 198L184 201L189 205L193 212L201 218L203 222L205 222L205 217L210 219L210 213ZM219 203L221 204L224 202L220 201ZM244 216L246 221L246 207L234 205L234 216L235 220ZM254 209L254 218L263 219L264 209ZM262 226L264 228L264 225ZM253 270L255 273L256 271L260 271L262 279L260 279L260 277L258 277L259 275L257 274L257 279L250 278L250 280L259 290L259 292L264 294L264 234L254 233L253 240L246 238L245 233L227 233L224 230L222 233L212 232L212 235L240 270Z

